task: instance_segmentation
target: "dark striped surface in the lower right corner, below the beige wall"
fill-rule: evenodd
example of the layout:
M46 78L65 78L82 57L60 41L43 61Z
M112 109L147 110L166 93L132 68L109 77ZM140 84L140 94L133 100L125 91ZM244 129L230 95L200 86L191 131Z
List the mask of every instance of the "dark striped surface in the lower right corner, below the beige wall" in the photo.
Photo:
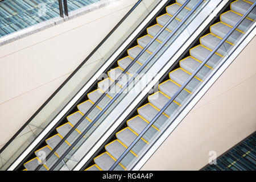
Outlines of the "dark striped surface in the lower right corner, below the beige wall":
M256 132L217 159L217 164L204 167L204 171L255 171Z

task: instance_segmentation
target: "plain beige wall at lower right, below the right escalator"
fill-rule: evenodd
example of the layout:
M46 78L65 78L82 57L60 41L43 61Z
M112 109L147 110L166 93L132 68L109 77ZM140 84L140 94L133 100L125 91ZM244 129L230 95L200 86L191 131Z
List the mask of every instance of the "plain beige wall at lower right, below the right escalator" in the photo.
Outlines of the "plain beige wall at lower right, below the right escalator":
M255 47L254 37L141 170L199 170L256 130Z

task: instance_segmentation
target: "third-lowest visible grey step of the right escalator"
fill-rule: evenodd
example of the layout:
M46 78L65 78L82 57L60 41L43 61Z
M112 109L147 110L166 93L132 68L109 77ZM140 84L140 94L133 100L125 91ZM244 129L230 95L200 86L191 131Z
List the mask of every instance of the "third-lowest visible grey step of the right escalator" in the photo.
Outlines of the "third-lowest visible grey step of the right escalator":
M118 159L123 152L126 150L126 146L124 146L119 140L114 140L113 142L107 144L105 146L106 151L109 152L110 155L112 155L115 159ZM124 167L128 167L131 162L136 158L136 155L132 152L128 152L126 154L125 158L122 159L121 164Z

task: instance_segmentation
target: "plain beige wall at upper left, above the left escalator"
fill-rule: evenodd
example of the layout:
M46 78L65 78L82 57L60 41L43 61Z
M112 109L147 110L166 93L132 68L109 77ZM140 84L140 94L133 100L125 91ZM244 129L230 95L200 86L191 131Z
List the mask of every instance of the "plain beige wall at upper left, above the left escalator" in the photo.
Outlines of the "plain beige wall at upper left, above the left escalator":
M136 2L120 0L0 47L0 148Z

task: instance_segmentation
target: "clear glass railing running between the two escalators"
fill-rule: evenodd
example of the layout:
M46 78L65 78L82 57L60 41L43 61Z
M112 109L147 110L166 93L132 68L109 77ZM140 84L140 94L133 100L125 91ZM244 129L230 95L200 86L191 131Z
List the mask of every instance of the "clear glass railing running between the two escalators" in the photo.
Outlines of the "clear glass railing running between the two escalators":
M203 0L191 1L189 2L189 5L194 7L193 10L188 11L188 9L182 9L177 15L183 14L183 18L177 19L175 16L173 16L172 18L174 19L170 19L170 22L163 27L168 27L171 29L170 34L166 35L166 32L161 32L159 34L159 36L167 36L166 40L162 43L159 43L158 40L154 40L150 46L145 47L147 48L146 51L142 53L142 55L139 55L139 57L135 58L135 60L138 58L143 65L141 67L138 67L138 65L132 65L127 70L128 73L136 73L134 75L123 75L123 77L117 79L117 84L115 84L112 89L107 88L107 90L109 90L107 93L110 97L112 97L112 99L109 99L107 96L105 99L103 98L101 100L101 104L104 106L104 109L100 111L100 113L96 110L86 113L83 116L84 118L81 119L81 122L78 122L79 125L72 128L73 131L77 129L82 131L82 133L77 134L77 132L73 132L70 133L67 138L64 138L64 140L66 139L71 141L71 146L67 146L65 143L58 146L64 148L66 151L62 156L60 156L59 159L57 159L55 164L51 164L50 170L71 170L80 162L84 155L94 146L97 140L101 138L102 134L104 134L112 126L115 121L112 115L115 115L117 111L122 113L123 110L126 109L126 102L133 102L133 100L137 98L138 94L141 93L144 88L146 88L146 85L152 78L148 77L148 75L153 76L155 73L154 69L160 65L158 62L159 57L161 57L166 49L170 47L172 42L177 39L181 32L187 31L189 34L187 25L192 22L193 18L200 13L208 2L209 1L203 2ZM205 18L207 18L207 16ZM153 51L149 53L150 51L148 51L148 49ZM153 67L154 69L151 69ZM126 70L123 72L126 73ZM145 77L148 78L147 82L142 81ZM88 118L86 117L90 118L92 121L89 126L87 125L88 127L85 125L85 123L88 122ZM56 157L52 155L48 158L48 160L46 160L46 163L54 160L56 160ZM43 170L44 167L42 166L39 170L41 169Z

